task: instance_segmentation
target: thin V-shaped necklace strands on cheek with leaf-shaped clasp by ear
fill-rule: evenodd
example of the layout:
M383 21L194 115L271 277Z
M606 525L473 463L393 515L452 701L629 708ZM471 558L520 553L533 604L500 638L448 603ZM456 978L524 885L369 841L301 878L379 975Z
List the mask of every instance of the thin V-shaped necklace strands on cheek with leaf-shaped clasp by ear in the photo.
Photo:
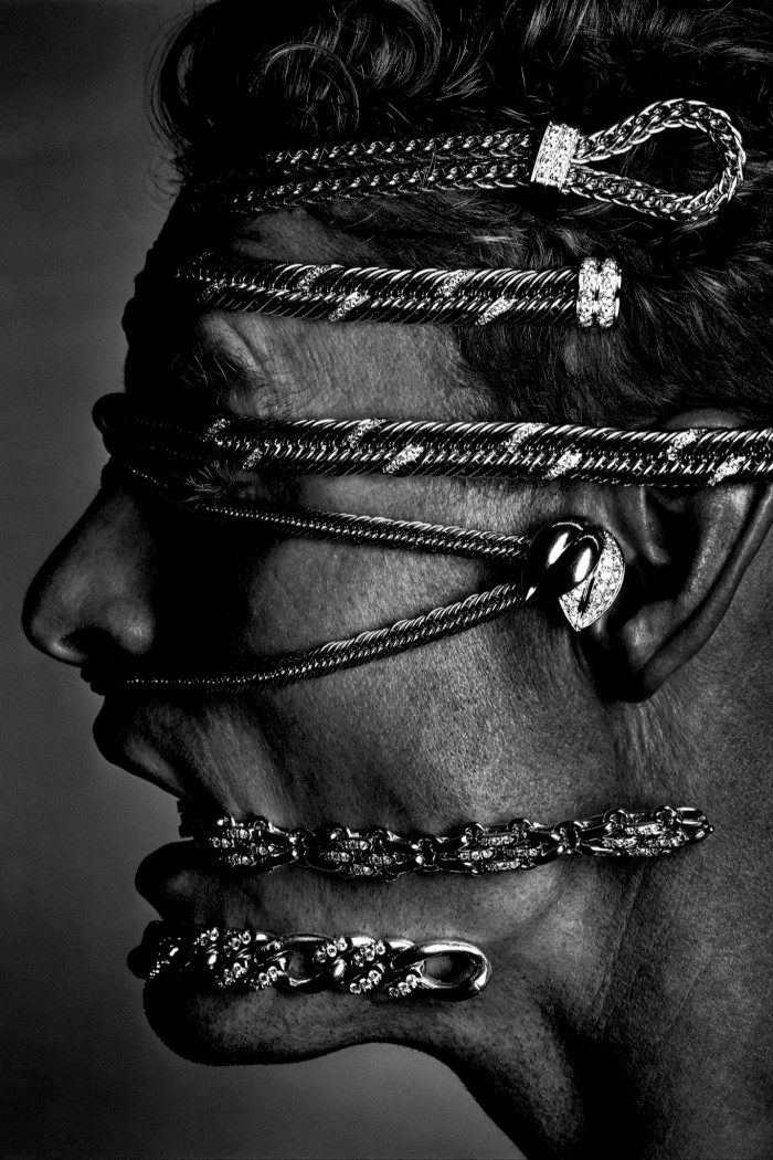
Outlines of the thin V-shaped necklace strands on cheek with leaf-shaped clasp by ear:
M117 450L114 448L114 450ZM167 452L169 444L167 444ZM174 456L172 456L174 458ZM162 469L163 464L156 464ZM168 467L168 464L167 464ZM416 648L431 640L455 636L527 602L557 600L561 595L584 585L599 564L606 577L610 532L590 524L561 521L548 524L531 539L501 536L474 529L445 528L432 524L408 523L373 516L355 516L336 512L277 512L265 505L229 505L221 501L191 502L191 490L184 480L167 470L166 477L151 474L124 462L121 455L110 464L108 478L138 485L153 495L182 507L192 516L204 516L218 522L238 525L268 527L290 536L312 536L344 542L380 544L415 551L447 552L480 559L499 559L516 566L516 579L494 588L473 593L462 601L435 608L409 621L398 621L386 628L360 632L344 640L330 640L294 653L265 658L253 662L247 670L196 674L174 672L111 672L92 665L82 676L97 693L108 688L155 689L167 691L203 690L209 694L247 694L260 688L278 688L309 677L322 676L367 661L392 657ZM605 554L605 545L606 554ZM622 565L622 556L619 561ZM620 578L621 579L621 578ZM600 583L592 604L592 616L598 619L617 596L619 585L612 588ZM604 596L607 602L605 603ZM590 606L589 606L590 608ZM574 611L570 609L574 617ZM570 615L566 612L567 618ZM576 617L575 617L576 619ZM583 626L591 623L586 611Z

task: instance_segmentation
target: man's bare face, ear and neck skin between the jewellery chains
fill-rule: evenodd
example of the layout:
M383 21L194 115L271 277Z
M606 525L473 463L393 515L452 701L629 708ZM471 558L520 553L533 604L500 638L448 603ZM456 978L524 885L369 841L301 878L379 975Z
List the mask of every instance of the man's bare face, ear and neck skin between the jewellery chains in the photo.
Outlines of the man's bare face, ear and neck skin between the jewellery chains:
M234 247L336 260L334 235L302 212L267 218ZM234 413L480 414L450 336L433 327L211 312L191 343L211 364L239 368L239 379L219 384L218 405ZM131 374L127 391L143 397ZM673 425L735 421L707 412ZM299 869L227 873L174 843L138 877L165 919L465 938L486 951L494 976L481 998L460 1005L150 986L159 1035L207 1063L300 1059L370 1041L413 1045L446 1061L528 1157L591 1147L642 1158L770 1154L767 487L665 494L356 476L241 486L258 499L280 486L301 507L511 534L586 517L622 546L623 594L579 637L557 610L530 608L248 697L114 694L95 726L109 760L194 803L282 826L440 833L469 820L557 821L671 804L700 806L716 833L657 861L575 858L527 873L393 883ZM115 487L42 570L25 628L74 665L131 658L212 672L503 579L480 561L235 536Z

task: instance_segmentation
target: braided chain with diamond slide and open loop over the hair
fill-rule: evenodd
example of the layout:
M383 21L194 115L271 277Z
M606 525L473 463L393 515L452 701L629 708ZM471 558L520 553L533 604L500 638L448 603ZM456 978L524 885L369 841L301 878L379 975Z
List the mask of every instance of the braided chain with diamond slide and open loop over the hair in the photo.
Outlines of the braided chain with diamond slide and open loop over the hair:
M719 175L707 189L674 194L591 168L666 129L692 129L714 146ZM705 222L743 181L741 136L721 109L701 101L658 101L619 124L583 136L571 125L534 130L365 142L265 155L248 173L183 191L192 212L254 215L335 198L400 196L444 189L547 186L564 194L680 223Z

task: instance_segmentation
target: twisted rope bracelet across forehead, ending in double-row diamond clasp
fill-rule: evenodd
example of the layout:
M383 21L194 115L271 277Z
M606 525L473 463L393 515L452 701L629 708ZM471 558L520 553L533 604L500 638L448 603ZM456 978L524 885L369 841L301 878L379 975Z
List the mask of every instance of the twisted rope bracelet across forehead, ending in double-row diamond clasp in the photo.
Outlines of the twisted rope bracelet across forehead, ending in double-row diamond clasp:
M206 253L170 274L163 271L161 280L172 298L203 310L328 322L576 322L606 329L618 316L620 295L620 270L611 258L547 270L446 270L314 266Z

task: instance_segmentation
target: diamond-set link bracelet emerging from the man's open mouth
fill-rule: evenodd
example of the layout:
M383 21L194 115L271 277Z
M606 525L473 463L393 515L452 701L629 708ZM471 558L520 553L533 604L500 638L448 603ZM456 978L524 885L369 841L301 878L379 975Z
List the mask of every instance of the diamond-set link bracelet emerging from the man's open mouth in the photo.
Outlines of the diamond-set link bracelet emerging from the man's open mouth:
M180 803L181 838L194 838L223 865L260 871L301 865L343 878L392 880L411 872L484 875L532 870L559 857L659 857L713 833L692 806L608 810L544 826L527 818L505 825L471 822L451 834L396 834L384 827L284 829L267 818L210 818Z

